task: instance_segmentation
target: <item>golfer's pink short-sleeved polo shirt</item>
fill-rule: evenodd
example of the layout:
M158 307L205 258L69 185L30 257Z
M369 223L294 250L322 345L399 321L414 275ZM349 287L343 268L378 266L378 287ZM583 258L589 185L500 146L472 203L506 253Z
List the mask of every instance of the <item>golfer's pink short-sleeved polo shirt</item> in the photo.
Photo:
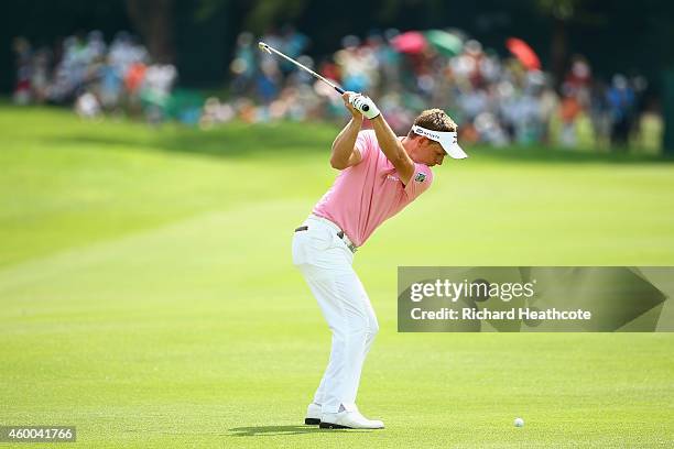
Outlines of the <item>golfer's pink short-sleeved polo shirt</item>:
M398 171L379 147L373 130L360 131L356 147L362 160L339 173L313 213L339 226L360 247L385 219L431 186L433 173L427 165L415 163L412 179L403 185Z

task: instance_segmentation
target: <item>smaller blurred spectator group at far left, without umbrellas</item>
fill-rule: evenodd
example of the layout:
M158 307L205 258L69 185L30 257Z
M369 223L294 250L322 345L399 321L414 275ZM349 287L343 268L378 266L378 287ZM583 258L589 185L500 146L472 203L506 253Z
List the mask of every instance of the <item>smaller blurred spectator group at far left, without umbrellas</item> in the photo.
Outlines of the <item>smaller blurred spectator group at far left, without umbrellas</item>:
M100 31L91 31L54 48L33 48L17 37L13 50L15 103L72 103L86 118L124 112L161 121L177 76L173 65L151 64L145 47L127 32L117 33L109 45Z

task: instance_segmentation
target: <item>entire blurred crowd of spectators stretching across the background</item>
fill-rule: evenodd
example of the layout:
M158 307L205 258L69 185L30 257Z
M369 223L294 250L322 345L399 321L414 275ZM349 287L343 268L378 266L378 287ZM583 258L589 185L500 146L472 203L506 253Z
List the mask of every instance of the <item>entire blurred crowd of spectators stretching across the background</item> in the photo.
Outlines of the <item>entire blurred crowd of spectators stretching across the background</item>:
M663 120L645 78L616 74L605 80L579 55L562 79L553 79L523 41L511 39L518 46L507 42L508 51L497 53L459 30L348 35L334 54L317 59L306 55L309 39L292 26L260 40L346 90L370 96L399 134L422 110L442 108L468 144L661 149ZM251 33L238 36L227 99L204 102L200 94L175 90L176 68L152 64L127 32L107 44L101 32L91 31L54 48L33 48L18 37L13 97L20 105L74 105L86 118L123 112L203 129L235 119L344 121L346 110L334 89L257 44Z

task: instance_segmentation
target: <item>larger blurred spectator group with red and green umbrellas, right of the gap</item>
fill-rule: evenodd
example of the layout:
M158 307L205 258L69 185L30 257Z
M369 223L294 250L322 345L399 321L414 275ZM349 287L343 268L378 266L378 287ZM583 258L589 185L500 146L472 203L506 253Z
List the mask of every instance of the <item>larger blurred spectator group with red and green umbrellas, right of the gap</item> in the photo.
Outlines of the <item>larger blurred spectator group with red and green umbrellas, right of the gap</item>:
M349 35L341 48L317 61L305 55L308 39L290 26L260 40L346 90L369 95L399 134L420 111L437 107L454 118L465 143L660 150L663 121L657 105L648 100L646 80L616 74L605 81L593 76L583 56L574 56L564 79L555 83L535 54L500 56L458 30L388 30L365 41ZM331 88L260 52L250 33L239 35L230 69L236 97L228 103L209 99L205 125L232 117L251 122L345 117Z

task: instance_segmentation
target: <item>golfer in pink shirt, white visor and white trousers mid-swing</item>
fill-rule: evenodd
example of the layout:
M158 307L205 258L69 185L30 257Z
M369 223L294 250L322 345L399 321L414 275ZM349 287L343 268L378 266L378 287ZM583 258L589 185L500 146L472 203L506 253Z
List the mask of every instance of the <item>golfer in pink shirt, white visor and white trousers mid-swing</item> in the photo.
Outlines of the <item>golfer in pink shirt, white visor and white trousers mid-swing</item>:
M457 144L456 123L439 109L422 112L399 138L371 99L356 92L343 99L352 117L333 143L330 165L340 173L293 238L293 263L333 332L330 359L305 424L378 429L383 423L356 407L362 364L379 325L351 266L354 254L385 219L428 189L430 167L441 165L445 154L467 156ZM372 130L361 131L363 117Z

